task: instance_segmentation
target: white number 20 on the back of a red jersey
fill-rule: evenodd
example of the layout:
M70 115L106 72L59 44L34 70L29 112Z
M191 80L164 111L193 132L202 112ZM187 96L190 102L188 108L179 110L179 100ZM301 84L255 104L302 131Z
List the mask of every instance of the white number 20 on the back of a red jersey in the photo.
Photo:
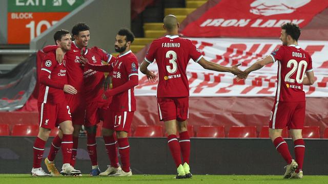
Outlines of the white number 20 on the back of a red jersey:
M292 67L293 65L293 67ZM304 66L304 67L303 67ZM304 60L301 60L299 63L295 59L291 59L287 63L287 67L291 68L292 70L286 74L285 81L290 83L295 83L295 79L291 79L291 76L296 72L296 82L301 84L303 82L304 74L308 63ZM303 68L303 70L302 70ZM301 71L302 70L302 71Z

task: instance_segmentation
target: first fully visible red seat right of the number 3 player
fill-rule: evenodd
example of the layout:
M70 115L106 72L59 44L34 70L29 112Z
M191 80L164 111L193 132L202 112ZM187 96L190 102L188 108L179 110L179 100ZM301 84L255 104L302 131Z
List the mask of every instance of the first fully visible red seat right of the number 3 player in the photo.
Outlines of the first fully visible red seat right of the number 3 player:
M223 126L200 126L197 131L197 137L224 137Z

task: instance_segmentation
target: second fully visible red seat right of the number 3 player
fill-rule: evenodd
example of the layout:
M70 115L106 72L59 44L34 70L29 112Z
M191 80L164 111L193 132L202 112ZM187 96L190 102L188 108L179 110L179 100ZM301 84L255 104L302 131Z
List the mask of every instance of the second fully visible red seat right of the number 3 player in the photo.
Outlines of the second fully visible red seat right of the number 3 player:
M256 136L256 127L238 127L232 126L229 130L229 137L236 137L236 138L250 138L250 137L257 137Z

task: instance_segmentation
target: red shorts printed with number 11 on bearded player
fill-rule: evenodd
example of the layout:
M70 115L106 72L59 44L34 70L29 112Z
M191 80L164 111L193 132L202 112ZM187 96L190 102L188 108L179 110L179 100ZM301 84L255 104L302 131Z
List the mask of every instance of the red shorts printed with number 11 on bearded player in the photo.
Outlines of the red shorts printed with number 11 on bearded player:
M134 111L108 110L104 117L103 127L115 131L130 132Z

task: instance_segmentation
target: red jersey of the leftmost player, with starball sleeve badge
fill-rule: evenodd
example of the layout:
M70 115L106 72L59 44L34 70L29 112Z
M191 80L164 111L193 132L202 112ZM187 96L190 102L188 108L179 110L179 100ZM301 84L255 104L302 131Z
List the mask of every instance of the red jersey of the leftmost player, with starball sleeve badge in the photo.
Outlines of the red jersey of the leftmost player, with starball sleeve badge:
M65 55L66 56L66 55ZM66 57L60 64L56 61L56 55L53 52L48 53L42 60L42 71L49 72L51 81L67 84L66 77ZM40 103L61 103L65 101L64 90L39 84L38 102Z

